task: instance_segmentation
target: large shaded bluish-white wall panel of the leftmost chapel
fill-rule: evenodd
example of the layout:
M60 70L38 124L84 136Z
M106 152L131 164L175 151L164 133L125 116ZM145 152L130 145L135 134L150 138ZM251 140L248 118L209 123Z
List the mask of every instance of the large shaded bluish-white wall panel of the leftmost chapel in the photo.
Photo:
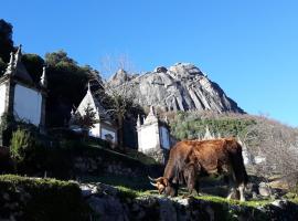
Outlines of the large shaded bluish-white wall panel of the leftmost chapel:
M41 93L17 84L14 90L13 114L14 117L29 120L39 126L41 120Z

